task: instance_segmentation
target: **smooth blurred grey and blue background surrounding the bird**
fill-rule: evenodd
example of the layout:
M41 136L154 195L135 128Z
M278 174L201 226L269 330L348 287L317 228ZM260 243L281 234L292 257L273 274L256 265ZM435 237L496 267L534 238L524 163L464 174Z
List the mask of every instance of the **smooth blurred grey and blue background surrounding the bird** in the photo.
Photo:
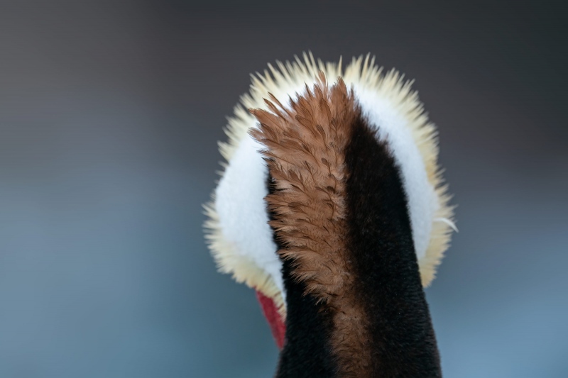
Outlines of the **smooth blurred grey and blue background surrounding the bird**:
M509 4L510 3L510 4ZM562 4L557 2L557 4ZM272 377L201 205L249 73L416 79L455 194L445 377L568 377L568 27L542 1L1 1L0 377Z

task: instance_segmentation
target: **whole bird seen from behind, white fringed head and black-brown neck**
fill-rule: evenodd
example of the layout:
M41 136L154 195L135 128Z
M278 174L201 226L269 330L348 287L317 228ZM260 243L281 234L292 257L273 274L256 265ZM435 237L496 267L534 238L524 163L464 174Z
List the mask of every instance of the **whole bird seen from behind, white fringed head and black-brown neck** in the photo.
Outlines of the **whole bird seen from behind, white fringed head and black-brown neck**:
M276 377L441 377L423 287L454 226L435 126L369 56L269 69L229 120L206 228L257 292Z

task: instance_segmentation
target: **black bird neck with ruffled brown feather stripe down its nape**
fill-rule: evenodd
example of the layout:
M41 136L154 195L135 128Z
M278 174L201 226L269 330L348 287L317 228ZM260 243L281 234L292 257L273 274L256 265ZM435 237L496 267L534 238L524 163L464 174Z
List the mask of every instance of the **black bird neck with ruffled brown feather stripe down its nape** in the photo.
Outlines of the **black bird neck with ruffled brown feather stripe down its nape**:
M341 79L291 109L267 104L251 134L266 146L286 291L276 377L441 377L389 146Z

